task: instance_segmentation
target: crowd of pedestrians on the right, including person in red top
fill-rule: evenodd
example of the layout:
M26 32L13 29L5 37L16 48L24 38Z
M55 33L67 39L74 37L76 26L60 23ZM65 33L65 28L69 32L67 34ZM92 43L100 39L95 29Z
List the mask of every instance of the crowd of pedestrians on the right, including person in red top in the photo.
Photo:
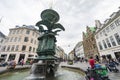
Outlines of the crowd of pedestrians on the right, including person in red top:
M82 62L88 63L91 66L91 68L95 68L96 66L97 67L102 66L102 67L106 67L107 70L110 72L119 71L119 69L117 69L117 67L120 64L120 58L113 59L113 58L107 57L107 56L99 57L98 55L95 55L95 56L90 56L89 59L84 58L84 57L78 58L78 59L74 60L74 63L76 63L78 61L81 63Z

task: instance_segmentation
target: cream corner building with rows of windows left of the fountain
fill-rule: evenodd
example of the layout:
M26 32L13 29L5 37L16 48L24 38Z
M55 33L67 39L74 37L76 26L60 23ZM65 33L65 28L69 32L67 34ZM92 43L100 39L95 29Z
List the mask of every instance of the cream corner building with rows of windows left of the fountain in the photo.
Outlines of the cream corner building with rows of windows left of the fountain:
M16 26L9 30L6 43L1 50L1 57L4 57L6 62L15 60L16 63L19 63L21 59L24 59L24 62L26 62L37 57L37 38L40 36L40 33L34 26Z

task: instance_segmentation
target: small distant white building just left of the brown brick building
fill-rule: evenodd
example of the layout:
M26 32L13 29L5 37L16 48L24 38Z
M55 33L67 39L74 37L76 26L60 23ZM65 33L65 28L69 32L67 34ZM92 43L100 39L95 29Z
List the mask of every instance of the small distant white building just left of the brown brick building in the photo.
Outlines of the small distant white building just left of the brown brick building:
M85 57L82 41L78 42L74 49L75 49L75 55L77 57Z

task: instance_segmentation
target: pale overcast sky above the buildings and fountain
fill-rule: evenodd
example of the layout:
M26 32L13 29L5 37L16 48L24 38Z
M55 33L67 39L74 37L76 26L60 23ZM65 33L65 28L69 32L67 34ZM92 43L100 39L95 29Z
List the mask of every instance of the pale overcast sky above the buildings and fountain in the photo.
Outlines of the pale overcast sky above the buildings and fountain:
M68 53L82 41L86 26L95 26L95 20L103 23L119 9L120 0L0 0L0 31L8 35L16 25L35 25L40 13L51 6L66 29L59 32L57 45Z

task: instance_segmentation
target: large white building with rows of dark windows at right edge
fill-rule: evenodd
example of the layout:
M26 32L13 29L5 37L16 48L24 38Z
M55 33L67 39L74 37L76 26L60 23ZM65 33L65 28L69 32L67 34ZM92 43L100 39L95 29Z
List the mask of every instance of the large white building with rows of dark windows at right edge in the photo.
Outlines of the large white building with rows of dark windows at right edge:
M114 12L104 24L99 20L95 22L97 28L95 39L100 56L120 57L120 10Z

